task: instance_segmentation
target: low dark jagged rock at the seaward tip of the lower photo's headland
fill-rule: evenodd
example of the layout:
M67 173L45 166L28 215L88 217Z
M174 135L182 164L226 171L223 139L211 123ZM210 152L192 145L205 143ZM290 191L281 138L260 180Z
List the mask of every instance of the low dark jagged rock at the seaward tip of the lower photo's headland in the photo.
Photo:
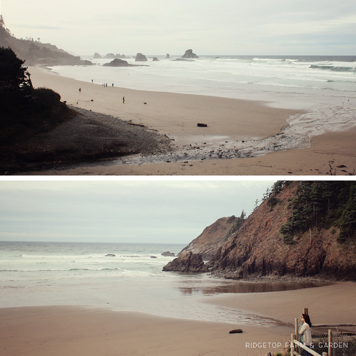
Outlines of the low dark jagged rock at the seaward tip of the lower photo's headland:
M162 269L167 272L207 272L208 267L204 264L200 254L184 251Z

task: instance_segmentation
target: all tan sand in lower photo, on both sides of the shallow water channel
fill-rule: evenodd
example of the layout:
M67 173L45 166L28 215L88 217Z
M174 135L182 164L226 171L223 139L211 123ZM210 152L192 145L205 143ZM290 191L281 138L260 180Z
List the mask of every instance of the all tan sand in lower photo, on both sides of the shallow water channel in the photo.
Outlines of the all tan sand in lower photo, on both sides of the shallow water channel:
M293 323L305 307L311 317L316 311L354 308L355 296L355 283L339 282L285 292L221 294L207 303ZM2 308L0 315L1 354L6 356L266 355L283 349L272 343L284 346L293 331L286 326L203 322L90 306ZM234 328L243 333L229 334ZM247 347L251 343L261 347Z

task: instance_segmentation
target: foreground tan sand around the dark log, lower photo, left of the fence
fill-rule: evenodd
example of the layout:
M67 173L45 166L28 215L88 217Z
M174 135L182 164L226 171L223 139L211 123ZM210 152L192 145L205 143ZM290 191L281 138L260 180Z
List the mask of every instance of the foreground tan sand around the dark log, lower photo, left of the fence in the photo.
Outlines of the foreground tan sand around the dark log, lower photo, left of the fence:
M135 312L53 306L1 309L0 315L1 355L6 356L242 356L260 355L246 349L246 342L281 343L279 329L246 326L245 334L229 334L231 324ZM262 350L265 354L267 348Z

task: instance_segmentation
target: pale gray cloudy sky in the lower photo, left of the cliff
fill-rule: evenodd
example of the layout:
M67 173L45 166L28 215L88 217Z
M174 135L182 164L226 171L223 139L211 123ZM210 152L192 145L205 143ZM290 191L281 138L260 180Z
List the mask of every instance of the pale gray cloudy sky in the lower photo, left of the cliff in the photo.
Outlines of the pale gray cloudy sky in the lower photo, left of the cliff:
M0 240L188 244L273 182L0 181Z

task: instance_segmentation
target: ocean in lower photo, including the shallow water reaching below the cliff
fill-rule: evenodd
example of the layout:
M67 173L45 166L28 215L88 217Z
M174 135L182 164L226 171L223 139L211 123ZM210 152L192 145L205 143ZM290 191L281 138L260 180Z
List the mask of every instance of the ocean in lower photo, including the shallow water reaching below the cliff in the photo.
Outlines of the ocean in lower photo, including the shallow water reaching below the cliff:
M267 293L321 285L247 283L212 278L207 273L163 272L174 257L161 253L178 254L183 247L0 241L0 308L85 305L232 324L281 326L278 320L204 302L219 293Z

